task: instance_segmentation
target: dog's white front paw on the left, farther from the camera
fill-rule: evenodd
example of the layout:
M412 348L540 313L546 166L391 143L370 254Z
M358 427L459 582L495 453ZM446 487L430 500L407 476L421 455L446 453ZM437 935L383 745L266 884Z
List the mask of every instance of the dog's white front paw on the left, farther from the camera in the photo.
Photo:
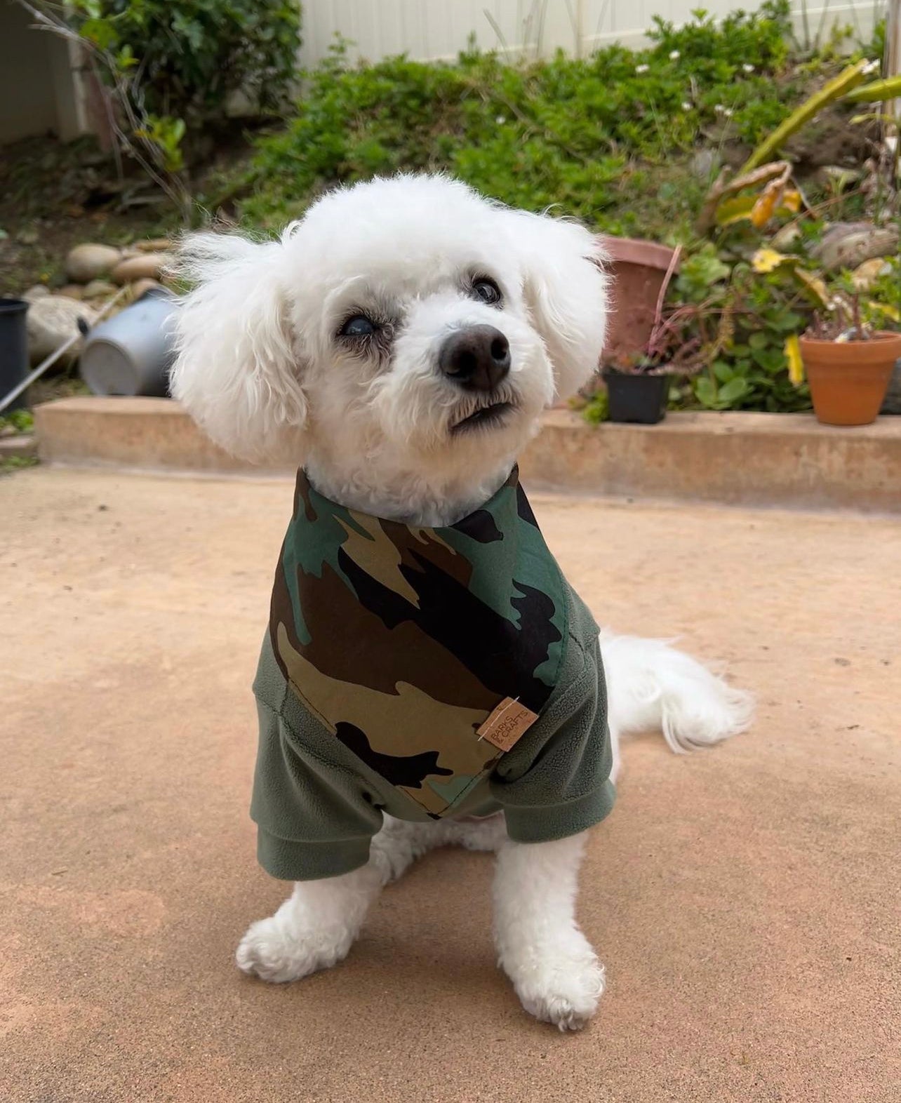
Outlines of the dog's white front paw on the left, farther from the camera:
M261 981L286 984L342 961L351 949L351 931L297 929L276 913L257 920L240 940L235 961L245 973Z

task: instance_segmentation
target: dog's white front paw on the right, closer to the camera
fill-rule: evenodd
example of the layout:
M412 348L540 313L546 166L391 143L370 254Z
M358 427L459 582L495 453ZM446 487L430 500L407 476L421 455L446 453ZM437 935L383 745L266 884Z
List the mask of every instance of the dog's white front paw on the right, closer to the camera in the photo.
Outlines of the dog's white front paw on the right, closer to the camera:
M508 970L523 1007L560 1030L581 1030L604 989L604 968L594 951L581 934L571 941L576 944L534 951L524 967Z

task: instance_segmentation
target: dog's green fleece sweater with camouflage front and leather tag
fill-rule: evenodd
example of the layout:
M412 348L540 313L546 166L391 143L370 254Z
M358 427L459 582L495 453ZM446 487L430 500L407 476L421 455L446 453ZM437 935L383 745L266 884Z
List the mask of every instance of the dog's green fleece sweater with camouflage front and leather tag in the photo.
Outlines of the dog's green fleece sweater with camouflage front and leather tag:
M383 812L503 810L511 838L538 843L613 803L598 627L516 469L441 528L347 510L299 472L254 692L273 877L364 865Z

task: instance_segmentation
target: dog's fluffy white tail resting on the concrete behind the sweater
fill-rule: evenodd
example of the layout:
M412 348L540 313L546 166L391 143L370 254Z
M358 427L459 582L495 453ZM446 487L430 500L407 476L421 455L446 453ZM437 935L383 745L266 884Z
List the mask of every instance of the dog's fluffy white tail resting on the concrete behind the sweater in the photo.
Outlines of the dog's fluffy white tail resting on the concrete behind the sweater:
M614 740L662 730L671 750L680 754L738 735L751 722L750 694L665 641L608 631L600 639Z

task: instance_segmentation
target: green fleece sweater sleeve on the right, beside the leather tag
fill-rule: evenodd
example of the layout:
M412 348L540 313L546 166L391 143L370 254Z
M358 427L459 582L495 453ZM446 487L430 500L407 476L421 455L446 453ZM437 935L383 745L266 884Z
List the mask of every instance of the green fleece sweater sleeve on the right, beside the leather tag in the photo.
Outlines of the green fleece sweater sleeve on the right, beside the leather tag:
M539 724L505 756L492 779L504 808L507 834L518 843L545 843L577 835L613 806L612 754L607 689L597 638L570 646L578 675L551 698ZM575 657L575 656L573 656ZM530 737L530 738L529 738Z

